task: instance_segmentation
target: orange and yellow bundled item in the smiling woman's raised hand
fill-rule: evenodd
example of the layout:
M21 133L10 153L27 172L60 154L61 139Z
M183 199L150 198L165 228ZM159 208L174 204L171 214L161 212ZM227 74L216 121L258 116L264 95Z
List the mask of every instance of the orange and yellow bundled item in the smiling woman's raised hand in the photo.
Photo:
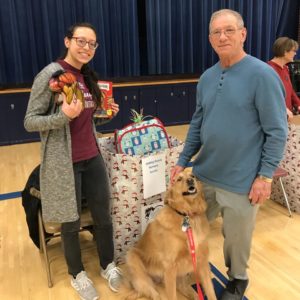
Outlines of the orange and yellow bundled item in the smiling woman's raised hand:
M83 93L78 86L75 75L72 73L63 70L55 72L49 80L49 88L54 93L63 92L66 95L68 104L75 96L77 100L82 102L82 107L84 107Z

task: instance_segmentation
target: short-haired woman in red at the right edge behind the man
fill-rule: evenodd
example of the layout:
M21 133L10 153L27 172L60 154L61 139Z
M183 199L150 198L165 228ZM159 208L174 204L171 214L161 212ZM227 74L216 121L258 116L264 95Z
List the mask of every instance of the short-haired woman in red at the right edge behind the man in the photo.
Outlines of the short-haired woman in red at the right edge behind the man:
M274 57L268 64L277 72L285 87L285 104L288 120L293 118L293 111L300 112L300 99L293 89L288 63L294 61L299 45L288 37L278 38L272 47Z

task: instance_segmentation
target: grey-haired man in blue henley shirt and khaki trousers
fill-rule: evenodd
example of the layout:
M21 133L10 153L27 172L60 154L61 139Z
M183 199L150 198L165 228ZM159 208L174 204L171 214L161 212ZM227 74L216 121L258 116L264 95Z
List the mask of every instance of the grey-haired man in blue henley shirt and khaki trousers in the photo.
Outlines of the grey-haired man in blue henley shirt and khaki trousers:
M213 13L209 41L219 62L201 76L196 111L171 181L201 148L193 173L203 182L207 216L223 217L229 283L222 300L242 299L260 204L270 197L272 174L287 138L284 87L267 64L243 49L240 14Z

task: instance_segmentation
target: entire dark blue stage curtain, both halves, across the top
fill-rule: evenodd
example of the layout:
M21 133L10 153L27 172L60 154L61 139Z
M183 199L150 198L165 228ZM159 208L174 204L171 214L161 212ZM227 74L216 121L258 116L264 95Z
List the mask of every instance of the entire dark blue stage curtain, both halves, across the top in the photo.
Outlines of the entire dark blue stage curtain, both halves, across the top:
M297 39L299 7L299 0L1 0L0 88L30 86L78 21L98 31L91 65L103 79L198 74L217 61L208 41L213 11L239 11L246 51L268 60L277 37Z

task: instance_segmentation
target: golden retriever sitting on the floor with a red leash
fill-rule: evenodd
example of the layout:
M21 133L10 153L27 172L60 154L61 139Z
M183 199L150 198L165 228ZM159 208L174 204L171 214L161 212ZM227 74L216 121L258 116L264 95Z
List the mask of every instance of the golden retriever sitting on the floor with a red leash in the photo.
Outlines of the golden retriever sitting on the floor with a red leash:
M188 299L198 299L190 277L194 273L188 238L184 227L187 217L193 232L197 274L208 300L215 300L208 262L209 224L202 187L185 170L166 193L165 205L152 220L142 237L126 254L127 278L122 299L146 297L162 299L156 283L163 282L168 300L176 300L176 290Z

